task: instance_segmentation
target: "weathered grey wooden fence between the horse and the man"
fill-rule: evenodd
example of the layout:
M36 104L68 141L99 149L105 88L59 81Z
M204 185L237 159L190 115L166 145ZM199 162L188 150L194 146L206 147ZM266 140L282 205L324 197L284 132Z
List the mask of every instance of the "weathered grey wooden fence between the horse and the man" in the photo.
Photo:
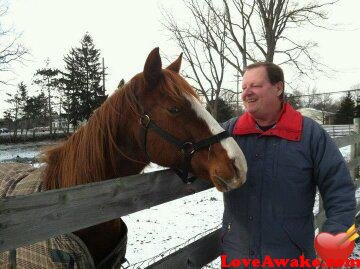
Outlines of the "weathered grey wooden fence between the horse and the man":
M338 147L352 145L348 163L359 176L360 135L335 138ZM358 187L359 181L355 180ZM0 199L0 252L70 233L211 188L208 181L184 184L169 170L104 182ZM321 227L321 203L315 216ZM359 211L359 210L358 210ZM164 257L147 268L201 268L220 254L220 229Z

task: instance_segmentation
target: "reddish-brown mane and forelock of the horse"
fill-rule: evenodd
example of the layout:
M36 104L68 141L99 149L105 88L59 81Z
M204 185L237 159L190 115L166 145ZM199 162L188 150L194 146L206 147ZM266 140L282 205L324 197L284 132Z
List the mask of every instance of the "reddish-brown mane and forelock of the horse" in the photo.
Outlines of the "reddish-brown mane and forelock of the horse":
M199 98L192 87L180 79L177 73L164 69L163 78L157 89L173 100L183 93ZM123 87L118 88L67 140L42 151L41 160L46 163L43 183L46 189L66 188L70 186L96 182L119 176L120 160L139 162L119 148L121 141L119 130L129 130L129 124L138 120L136 92L144 87L142 73L136 75ZM135 141L133 134L127 134ZM137 149L139 150L139 149ZM134 149L136 151L136 149Z

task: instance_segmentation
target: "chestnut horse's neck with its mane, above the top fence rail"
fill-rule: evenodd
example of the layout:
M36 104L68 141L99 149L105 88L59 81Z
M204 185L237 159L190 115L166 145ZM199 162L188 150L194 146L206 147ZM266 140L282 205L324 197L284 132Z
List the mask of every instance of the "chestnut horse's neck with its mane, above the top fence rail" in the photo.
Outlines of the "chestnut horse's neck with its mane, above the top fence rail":
M134 137L135 114L110 97L67 141L45 153L48 189L137 174L148 164Z

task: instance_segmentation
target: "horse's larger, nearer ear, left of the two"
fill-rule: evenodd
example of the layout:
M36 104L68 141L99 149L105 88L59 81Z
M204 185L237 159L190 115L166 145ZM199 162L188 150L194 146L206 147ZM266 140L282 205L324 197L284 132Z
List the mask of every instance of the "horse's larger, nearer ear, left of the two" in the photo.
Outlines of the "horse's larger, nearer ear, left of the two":
M147 86L156 86L161 78L161 58L159 48L153 49L146 59L144 77Z

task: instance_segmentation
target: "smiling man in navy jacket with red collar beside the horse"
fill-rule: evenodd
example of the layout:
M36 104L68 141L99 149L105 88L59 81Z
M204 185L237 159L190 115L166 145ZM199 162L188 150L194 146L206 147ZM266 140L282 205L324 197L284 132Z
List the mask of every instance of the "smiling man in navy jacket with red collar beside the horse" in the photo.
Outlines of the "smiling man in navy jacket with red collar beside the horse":
M267 255L313 259L316 186L327 216L324 232L345 232L354 223L355 189L345 161L319 124L284 103L279 66L248 66L242 88L246 112L224 123L248 163L246 183L224 194L227 265Z

